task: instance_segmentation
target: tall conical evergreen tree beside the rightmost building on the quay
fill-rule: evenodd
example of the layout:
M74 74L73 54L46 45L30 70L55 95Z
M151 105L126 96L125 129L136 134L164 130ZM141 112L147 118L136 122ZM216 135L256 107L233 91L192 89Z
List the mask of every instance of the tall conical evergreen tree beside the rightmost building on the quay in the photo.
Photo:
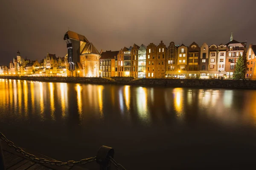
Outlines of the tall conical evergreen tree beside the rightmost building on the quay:
M246 57L246 51L244 49L243 55L239 56L237 62L236 62L236 68L234 71L234 79L245 79L245 73L247 68L247 57Z

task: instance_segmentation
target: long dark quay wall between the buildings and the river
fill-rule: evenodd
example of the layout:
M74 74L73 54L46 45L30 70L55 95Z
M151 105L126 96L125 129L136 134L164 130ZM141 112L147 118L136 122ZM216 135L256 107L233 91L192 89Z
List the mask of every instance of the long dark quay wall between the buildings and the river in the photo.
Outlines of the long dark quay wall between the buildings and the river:
M250 88L256 89L253 80L218 80L218 79L137 79L119 78L105 79L102 77L12 77L1 76L2 79L20 79L42 82L74 82L91 84L122 84L122 85L167 85L176 87L215 87L215 88Z

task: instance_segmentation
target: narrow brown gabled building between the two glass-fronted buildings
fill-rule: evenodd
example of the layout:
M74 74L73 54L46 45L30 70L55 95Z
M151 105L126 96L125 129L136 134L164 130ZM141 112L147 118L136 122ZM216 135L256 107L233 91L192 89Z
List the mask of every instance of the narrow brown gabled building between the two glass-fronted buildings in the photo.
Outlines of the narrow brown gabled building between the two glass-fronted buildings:
M138 51L140 46L134 44L131 48L131 77L138 77Z

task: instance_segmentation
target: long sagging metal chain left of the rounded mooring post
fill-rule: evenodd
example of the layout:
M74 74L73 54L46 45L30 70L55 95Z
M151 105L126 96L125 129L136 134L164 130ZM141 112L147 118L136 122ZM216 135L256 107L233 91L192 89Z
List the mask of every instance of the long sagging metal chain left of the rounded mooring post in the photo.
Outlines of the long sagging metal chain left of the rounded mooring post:
M21 149L20 147L16 147L14 145L14 143L12 141L9 141L6 136L3 135L3 133L0 132L0 139L3 140L4 142L6 142L9 147L13 147L15 149L16 152L23 154L24 156L28 157L29 159L37 162L37 163L41 163L41 164L49 164L49 165L56 165L56 166L63 166L63 165L67 165L67 166L73 166L75 164L87 164L89 162L93 162L96 161L96 156L95 157L91 157L91 158L86 158L86 159L81 159L80 161L67 161L67 162L62 162L62 161L50 161L44 158L37 158L35 155L26 153L23 149Z

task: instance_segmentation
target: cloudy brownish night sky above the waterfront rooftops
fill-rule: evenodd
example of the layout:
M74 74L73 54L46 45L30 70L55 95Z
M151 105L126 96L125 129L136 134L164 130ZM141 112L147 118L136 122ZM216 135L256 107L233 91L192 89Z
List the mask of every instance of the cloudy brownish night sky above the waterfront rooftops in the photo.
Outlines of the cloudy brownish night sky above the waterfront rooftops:
M0 65L19 50L42 59L67 54L64 33L84 35L98 51L124 46L256 44L256 0L3 0L0 6Z

